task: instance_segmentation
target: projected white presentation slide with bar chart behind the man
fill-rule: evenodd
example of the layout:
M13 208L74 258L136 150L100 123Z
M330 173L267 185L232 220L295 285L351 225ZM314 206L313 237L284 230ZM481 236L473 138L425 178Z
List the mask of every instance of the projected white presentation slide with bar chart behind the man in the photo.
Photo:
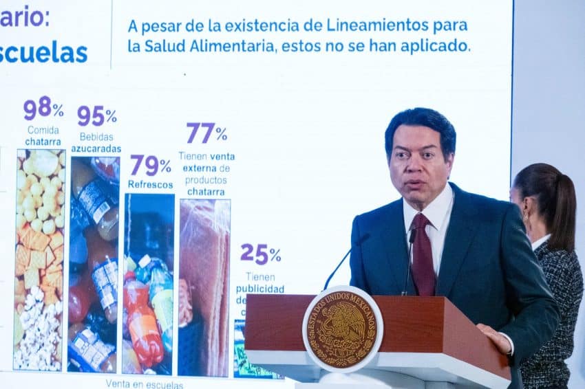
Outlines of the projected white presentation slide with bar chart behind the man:
M443 113L451 181L508 199L512 12L3 1L4 385L292 388L246 357L246 294L319 293L354 216L398 199L394 114Z

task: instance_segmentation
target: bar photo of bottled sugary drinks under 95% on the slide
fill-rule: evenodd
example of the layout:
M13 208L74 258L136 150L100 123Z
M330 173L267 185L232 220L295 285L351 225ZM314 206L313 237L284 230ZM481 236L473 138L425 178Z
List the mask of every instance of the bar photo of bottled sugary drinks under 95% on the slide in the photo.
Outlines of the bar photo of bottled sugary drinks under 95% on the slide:
M116 373L119 157L72 157L67 371Z

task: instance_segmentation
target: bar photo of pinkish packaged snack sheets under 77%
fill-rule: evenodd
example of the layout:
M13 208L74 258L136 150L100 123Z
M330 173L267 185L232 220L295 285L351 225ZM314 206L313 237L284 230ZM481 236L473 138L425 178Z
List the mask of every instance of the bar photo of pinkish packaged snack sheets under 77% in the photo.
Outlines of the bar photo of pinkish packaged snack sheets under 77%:
M230 201L180 201L179 375L228 375Z

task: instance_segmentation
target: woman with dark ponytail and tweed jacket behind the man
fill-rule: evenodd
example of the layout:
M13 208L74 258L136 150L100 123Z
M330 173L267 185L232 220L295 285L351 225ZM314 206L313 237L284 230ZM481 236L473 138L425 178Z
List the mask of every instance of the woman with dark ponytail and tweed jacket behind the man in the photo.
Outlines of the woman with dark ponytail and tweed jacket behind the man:
M564 360L573 353L583 296L583 276L575 254L575 187L554 166L533 164L514 178L510 199L520 208L532 249L561 313L553 338L520 366L524 388L566 388L570 373Z

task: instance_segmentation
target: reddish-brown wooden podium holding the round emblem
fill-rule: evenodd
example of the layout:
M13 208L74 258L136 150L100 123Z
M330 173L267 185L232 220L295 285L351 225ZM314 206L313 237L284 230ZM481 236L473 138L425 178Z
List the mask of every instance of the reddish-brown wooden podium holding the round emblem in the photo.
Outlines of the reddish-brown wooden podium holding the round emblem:
M302 336L304 313L314 297L247 296L244 336L251 363L297 381L319 381L323 370L309 357ZM382 312L384 334L378 354L362 370L451 383L436 386L445 388L509 386L507 357L447 298L372 297Z

